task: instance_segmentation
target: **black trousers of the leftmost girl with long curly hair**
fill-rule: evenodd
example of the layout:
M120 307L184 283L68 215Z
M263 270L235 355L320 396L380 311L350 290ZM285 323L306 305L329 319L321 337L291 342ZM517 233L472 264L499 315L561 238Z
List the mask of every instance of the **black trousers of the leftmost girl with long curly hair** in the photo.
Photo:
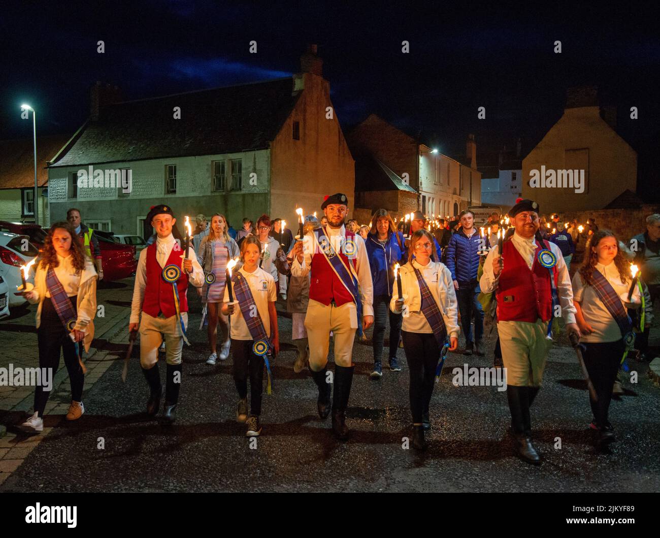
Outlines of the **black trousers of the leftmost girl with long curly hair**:
M76 297L69 297L69 300L71 300L75 311ZM52 368L51 382L57 368L59 368L60 350L63 352L64 364L67 366L69 382L71 383L71 399L81 401L84 374L78 360L76 347L69 338L69 331L64 328L59 316L57 316L53 302L48 297L44 298L42 303L41 322L37 330L37 343L39 347L39 368ZM82 347L82 342L79 342L78 345ZM46 409L49 395L50 391L44 390L40 386L34 389L34 411L39 414L40 418L44 417L44 409Z

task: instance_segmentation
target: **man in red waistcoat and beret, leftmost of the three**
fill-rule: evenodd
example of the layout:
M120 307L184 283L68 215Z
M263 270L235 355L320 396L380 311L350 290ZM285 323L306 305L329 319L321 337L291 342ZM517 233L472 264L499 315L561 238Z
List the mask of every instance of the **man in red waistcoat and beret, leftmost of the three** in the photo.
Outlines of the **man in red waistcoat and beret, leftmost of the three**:
M199 288L204 271L189 246L192 230L186 230L185 254L172 236L176 224L169 205L156 205L147 215L156 229L156 241L140 253L135 272L129 332L140 331L140 364L150 388L147 413L156 415L162 389L158 374L158 347L166 343L165 422L176 420L181 387L181 352L188 321L188 282Z

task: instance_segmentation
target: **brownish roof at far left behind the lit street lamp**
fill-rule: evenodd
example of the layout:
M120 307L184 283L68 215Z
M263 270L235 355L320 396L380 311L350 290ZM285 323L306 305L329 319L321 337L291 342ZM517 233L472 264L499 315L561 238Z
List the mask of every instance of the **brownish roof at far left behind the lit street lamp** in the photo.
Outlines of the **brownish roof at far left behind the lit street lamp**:
M67 143L70 135L37 139L37 184L48 184L46 164ZM0 189L34 187L34 145L32 138L0 140Z

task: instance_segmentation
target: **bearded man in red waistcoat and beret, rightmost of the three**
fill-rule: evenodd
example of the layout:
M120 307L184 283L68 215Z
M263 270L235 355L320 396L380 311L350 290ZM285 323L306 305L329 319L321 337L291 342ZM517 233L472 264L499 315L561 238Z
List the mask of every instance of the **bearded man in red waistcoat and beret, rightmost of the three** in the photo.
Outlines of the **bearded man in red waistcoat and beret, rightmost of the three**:
M519 198L509 215L515 232L492 248L484 263L480 287L496 290L498 334L506 368L507 397L517 455L539 464L531 442L529 408L543 380L549 327L557 307L566 320L568 335L580 336L576 325L573 290L559 247L539 234L539 204Z

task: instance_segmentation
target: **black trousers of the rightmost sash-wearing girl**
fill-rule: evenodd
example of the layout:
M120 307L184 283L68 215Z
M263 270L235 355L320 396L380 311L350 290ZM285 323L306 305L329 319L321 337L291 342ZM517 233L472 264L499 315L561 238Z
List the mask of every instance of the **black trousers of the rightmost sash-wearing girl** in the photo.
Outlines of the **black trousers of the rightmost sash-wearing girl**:
M607 424L607 411L612 400L612 387L626 346L623 339L616 342L585 342L584 345L587 349L582 353L582 358L598 397L598 401L593 401L591 394L589 394L591 411L593 411L593 416L596 418L596 425L602 428Z

